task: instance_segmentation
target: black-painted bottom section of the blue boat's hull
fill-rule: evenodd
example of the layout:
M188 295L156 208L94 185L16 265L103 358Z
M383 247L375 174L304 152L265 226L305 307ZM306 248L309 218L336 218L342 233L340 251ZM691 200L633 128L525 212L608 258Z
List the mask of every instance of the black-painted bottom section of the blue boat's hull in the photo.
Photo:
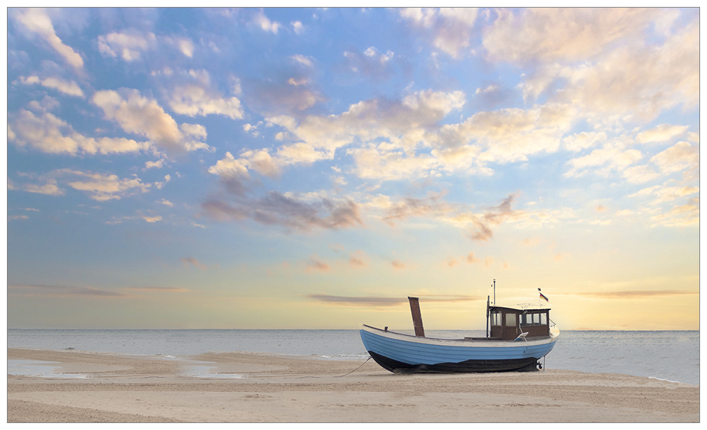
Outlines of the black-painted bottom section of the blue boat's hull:
M537 359L467 360L460 363L407 364L368 351L376 363L393 373L467 374L476 372L537 371Z

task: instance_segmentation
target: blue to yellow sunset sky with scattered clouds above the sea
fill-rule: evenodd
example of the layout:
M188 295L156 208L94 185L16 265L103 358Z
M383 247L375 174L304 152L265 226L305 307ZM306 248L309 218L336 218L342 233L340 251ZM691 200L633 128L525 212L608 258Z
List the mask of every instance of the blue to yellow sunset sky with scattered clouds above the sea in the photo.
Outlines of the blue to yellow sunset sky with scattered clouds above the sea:
M698 8L8 8L8 328L699 330Z

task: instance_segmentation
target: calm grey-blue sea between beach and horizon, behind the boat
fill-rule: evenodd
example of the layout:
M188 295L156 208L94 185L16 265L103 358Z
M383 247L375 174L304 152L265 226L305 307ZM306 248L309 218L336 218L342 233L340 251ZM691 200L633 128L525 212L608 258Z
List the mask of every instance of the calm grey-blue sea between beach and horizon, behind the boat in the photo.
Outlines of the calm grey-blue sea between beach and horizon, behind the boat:
M400 330L413 333L411 330ZM425 330L431 338L484 331ZM563 331L547 369L648 376L699 385L699 331ZM366 359L358 330L23 330L8 329L8 347L185 357L204 352L271 352Z

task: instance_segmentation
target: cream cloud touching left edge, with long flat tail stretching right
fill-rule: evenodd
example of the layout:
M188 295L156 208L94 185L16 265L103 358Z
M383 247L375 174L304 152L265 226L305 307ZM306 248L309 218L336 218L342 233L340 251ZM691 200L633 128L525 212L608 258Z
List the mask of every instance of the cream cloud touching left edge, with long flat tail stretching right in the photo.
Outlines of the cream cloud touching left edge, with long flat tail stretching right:
M16 145L29 146L43 153L52 154L124 154L139 153L151 148L148 142L127 138L90 138L77 133L66 121L49 112L36 116L26 109L11 115L8 140ZM12 136L10 136L10 131Z

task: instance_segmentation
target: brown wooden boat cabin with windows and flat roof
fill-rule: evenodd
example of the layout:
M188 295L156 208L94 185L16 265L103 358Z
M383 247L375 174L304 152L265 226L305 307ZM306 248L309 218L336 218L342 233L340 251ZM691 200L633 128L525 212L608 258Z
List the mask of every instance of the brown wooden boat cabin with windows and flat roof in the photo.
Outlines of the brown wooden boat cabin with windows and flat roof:
M514 340L521 333L526 338L550 335L549 308L507 308L489 306L490 338Z

